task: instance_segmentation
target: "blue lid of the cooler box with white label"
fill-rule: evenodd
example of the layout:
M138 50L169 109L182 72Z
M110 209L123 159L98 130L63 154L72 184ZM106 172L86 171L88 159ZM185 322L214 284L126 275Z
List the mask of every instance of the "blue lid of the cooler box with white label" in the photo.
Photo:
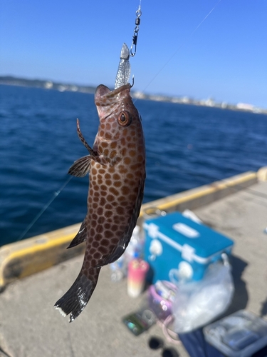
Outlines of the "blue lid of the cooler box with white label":
M150 238L159 238L187 256L187 260L207 263L212 256L234 245L226 236L196 223L181 213L168 213L145 221L144 228Z

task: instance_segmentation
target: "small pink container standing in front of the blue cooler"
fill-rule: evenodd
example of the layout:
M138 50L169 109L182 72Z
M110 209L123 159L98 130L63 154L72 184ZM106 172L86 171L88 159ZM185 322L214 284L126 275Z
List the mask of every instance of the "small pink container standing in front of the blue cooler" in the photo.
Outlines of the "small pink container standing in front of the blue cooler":
M142 259L133 259L128 266L127 293L132 298L137 298L144 290L145 278L149 264Z

